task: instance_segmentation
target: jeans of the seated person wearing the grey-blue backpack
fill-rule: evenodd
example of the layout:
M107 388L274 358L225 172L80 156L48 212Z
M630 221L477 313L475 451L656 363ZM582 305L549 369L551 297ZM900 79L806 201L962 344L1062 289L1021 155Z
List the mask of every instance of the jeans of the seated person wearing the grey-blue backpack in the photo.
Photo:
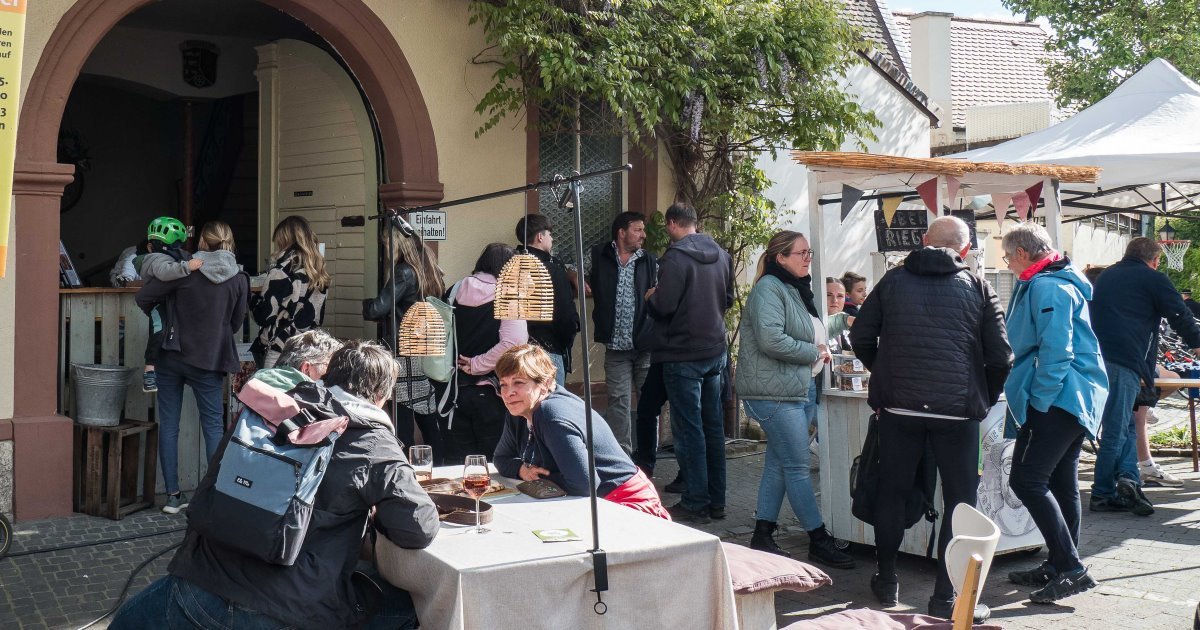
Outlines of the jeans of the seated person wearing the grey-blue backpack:
M416 608L408 593L383 581L378 574L371 577L383 590L383 608L362 628L380 630L416 628ZM130 598L116 611L108 628L283 630L294 625L168 575Z

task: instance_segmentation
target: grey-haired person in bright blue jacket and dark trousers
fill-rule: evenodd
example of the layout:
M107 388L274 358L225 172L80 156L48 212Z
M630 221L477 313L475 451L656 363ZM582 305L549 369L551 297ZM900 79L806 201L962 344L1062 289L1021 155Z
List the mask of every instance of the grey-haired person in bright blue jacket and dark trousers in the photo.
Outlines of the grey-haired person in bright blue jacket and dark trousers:
M1004 264L1016 276L1006 318L1015 359L1004 396L1020 427L1008 485L1050 553L1040 566L1008 578L1038 587L1030 600L1050 604L1096 586L1078 550L1079 449L1098 433L1109 378L1092 331L1087 278L1032 221L1009 229L1003 248Z

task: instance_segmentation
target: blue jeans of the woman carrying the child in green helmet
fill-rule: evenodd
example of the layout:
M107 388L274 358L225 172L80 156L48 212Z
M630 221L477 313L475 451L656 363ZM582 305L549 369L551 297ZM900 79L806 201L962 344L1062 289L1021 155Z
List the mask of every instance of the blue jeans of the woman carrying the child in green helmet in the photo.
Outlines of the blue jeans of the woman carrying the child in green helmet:
M206 461L212 460L224 434L224 372L193 367L180 356L176 352L164 352L155 366L158 373L158 463L168 494L179 492L179 416L184 410L184 385L190 385L196 395Z

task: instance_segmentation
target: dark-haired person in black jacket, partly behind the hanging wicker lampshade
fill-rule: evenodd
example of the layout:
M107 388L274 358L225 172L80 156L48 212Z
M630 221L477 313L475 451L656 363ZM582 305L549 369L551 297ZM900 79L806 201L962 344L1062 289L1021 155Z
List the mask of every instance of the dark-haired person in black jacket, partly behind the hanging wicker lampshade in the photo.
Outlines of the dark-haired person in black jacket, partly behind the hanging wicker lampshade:
M566 372L571 370L571 348L575 334L580 331L580 313L575 310L575 295L566 268L551 254L554 246L553 224L546 215L529 215L517 222L517 247L520 253L530 253L546 265L550 282L554 287L554 319L529 322L529 341L550 353L558 371L554 379L566 384Z

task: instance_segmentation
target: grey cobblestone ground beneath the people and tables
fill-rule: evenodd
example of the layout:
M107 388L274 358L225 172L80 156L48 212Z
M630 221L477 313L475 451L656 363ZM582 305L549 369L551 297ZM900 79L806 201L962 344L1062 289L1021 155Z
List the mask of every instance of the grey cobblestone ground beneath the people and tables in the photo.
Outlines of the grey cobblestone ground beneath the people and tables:
M1160 415L1160 430L1180 421L1177 404ZM762 470L761 445L730 449L728 517L703 529L738 544L749 544ZM1060 606L1027 604L1027 589L1009 584L1008 571L1040 562L1036 556L996 558L983 601L992 607L992 623L1010 629L1138 628L1184 629L1200 596L1200 475L1184 458L1159 458L1183 478L1182 488L1148 488L1157 511L1150 517L1128 514L1084 512L1085 563L1102 582L1096 590L1067 599ZM661 461L655 484L661 488L676 472L674 461ZM1091 461L1081 470L1084 504L1091 486ZM677 494L665 494L667 504ZM1086 509L1085 509L1086 510ZM796 558L808 556L808 538L785 502L776 540ZM155 553L181 540L182 515L145 510L124 521L76 515L68 518L18 523L11 556L0 559L0 629L67 629L103 614L116 600L131 571ZM142 536L113 542L119 538ZM56 550L60 551L44 551ZM811 593L780 592L775 610L780 628L847 607L874 607L868 580L874 572L870 548L856 548L858 568L829 569L829 587ZM170 553L154 559L133 580L137 593L162 576ZM901 556L900 599L904 608L924 612L932 588L934 565L923 558ZM94 628L106 628L106 622Z

